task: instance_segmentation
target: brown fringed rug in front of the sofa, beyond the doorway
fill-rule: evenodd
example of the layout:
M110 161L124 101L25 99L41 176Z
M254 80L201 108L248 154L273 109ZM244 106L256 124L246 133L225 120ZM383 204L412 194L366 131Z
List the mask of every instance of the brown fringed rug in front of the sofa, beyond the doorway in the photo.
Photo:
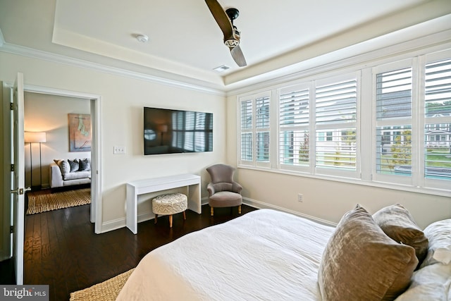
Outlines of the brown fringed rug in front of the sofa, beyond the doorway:
M27 214L80 206L91 203L91 188L51 192L40 190L27 192Z

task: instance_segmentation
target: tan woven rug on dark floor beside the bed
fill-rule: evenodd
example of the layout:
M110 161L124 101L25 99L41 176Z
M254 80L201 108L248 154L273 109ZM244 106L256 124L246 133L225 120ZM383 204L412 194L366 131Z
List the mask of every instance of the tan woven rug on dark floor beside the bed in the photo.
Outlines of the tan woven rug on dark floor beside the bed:
M131 269L107 281L92 285L90 288L70 293L70 301L114 301L133 270Z

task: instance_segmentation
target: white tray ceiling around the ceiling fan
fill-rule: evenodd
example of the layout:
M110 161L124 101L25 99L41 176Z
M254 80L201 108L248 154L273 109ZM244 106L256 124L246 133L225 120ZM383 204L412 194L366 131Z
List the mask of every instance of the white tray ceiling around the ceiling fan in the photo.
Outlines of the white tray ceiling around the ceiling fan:
M451 12L449 0L219 3L240 10L247 67L231 58L204 0L0 0L0 30L4 44L225 87ZM221 65L230 69L212 70Z

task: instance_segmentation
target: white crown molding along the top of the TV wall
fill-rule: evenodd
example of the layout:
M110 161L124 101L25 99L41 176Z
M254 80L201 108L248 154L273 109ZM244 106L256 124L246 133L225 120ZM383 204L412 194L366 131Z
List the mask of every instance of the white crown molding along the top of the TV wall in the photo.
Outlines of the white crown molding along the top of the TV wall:
M161 85L168 85L171 87L178 87L186 90L192 90L196 92L202 92L207 94L215 94L219 96L225 96L226 92L223 88L209 87L206 82L199 80L193 80L191 78L183 78L181 75L175 75L173 73L165 73L163 76L152 75L148 73L136 72L133 70L127 70L125 68L117 68L113 66L106 66L101 63L94 63L92 61L85 61L82 59L75 59L69 56L63 56L61 54L54 54L48 51L42 51L32 49L29 47L22 47L16 44L9 44L4 42L3 35L0 31L0 51L16 54L19 56L27 56L33 59L40 59L44 61L51 61L53 63L61 63L69 66L75 66L79 68L86 68L89 70L98 71L101 73L109 73L111 75L123 76L126 78L133 78L135 80L146 80L149 82L155 82ZM161 73L159 70L153 70L149 68L149 73ZM166 77L167 76L167 77Z

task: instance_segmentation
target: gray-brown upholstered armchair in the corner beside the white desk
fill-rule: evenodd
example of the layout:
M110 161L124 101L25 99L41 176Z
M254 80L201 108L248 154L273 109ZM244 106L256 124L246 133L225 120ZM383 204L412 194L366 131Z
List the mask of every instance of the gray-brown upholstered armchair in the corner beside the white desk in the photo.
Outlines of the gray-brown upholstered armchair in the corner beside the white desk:
M226 164L216 164L206 168L211 177L211 182L206 186L209 191L210 214L214 215L214 207L238 206L238 214L241 214L242 186L233 180L235 168Z

